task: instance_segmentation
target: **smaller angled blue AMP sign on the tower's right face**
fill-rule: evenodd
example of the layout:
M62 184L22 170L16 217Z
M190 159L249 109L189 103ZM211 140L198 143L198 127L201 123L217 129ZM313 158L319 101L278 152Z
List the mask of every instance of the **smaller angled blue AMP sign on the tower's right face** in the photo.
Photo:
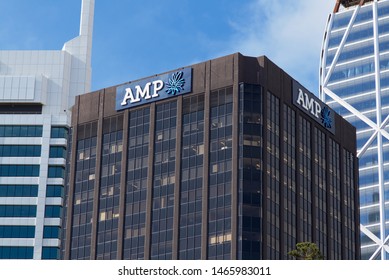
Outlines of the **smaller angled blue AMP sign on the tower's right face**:
M319 98L293 80L293 104L335 134L335 113Z

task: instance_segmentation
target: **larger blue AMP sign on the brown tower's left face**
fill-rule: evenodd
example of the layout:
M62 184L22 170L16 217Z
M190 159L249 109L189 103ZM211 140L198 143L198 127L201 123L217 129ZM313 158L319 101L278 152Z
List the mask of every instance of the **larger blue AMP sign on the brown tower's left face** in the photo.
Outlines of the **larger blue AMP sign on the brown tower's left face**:
M192 68L128 83L116 88L116 111L192 91Z

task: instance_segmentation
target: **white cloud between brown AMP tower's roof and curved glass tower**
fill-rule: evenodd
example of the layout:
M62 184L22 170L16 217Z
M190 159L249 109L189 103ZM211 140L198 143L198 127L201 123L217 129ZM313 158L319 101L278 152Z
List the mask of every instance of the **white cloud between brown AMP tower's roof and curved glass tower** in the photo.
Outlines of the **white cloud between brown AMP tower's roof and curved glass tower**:
M266 55L318 94L321 45L335 0L254 0L241 19L226 52Z

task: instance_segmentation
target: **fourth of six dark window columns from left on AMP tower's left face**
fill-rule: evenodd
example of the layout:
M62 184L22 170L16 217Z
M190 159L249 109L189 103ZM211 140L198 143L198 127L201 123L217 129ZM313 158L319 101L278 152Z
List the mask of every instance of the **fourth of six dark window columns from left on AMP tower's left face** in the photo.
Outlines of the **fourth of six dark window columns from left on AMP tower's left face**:
M174 201L176 200L174 186L176 182L177 102L157 104L155 113L150 258L171 260Z

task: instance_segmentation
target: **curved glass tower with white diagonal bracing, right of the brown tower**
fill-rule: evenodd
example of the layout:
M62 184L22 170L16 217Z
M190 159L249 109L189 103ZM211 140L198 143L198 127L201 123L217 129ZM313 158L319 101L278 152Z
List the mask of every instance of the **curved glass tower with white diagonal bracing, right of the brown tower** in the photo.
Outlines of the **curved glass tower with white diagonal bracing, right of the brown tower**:
M389 1L336 2L320 66L321 99L357 128L361 254L389 258Z

